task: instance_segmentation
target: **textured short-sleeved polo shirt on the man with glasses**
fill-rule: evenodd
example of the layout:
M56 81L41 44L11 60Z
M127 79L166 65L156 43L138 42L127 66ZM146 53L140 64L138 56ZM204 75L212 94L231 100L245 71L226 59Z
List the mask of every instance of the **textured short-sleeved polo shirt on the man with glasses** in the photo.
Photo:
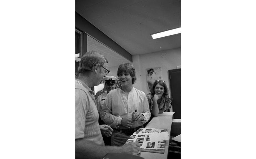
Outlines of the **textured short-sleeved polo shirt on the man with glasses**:
M85 138L104 146L98 124L99 114L93 91L81 80L76 79L76 139Z

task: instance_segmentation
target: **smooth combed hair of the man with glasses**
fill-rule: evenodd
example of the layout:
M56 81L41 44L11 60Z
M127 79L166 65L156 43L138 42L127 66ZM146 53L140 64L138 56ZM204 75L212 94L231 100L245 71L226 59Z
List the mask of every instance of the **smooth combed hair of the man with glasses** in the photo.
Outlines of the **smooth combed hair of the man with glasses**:
M81 58L78 66L78 72L85 73L93 71L93 66L95 66L96 64L103 65L105 62L108 63L106 57L101 53L98 53L96 51L88 51Z

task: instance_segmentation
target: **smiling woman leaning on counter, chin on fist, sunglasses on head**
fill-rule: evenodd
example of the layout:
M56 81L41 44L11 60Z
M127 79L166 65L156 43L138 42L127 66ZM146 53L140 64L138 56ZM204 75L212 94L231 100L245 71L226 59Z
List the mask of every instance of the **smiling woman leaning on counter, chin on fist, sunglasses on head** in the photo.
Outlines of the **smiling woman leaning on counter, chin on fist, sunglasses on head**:
M156 80L147 94L151 118L163 114L164 111L172 111L171 100L165 81Z

